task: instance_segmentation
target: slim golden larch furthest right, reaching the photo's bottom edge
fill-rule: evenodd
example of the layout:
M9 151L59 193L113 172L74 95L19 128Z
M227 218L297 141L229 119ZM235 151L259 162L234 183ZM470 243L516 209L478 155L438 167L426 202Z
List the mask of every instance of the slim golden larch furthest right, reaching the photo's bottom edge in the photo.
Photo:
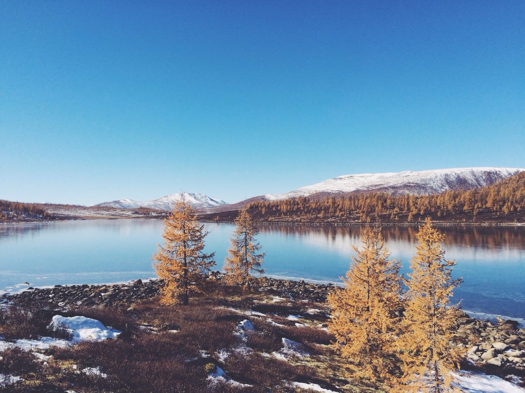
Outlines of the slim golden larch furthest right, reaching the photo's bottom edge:
M460 279L451 276L453 260L444 258L444 235L427 217L417 233L406 285L407 304L398 344L403 362L404 390L441 393L450 387L463 350L454 334L459 309L450 304Z

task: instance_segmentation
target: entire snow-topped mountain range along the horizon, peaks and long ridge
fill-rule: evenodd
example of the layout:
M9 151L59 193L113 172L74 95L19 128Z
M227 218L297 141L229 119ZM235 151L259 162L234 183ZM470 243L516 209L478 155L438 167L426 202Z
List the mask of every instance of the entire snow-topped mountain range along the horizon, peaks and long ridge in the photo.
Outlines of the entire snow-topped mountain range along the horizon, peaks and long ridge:
M320 183L307 185L306 187L301 187L283 194L259 195L233 204L209 198L209 196L204 194L184 193L184 195L186 201L197 210L224 212L240 209L250 202L298 198L299 196L322 198L323 196L333 194L373 191L383 191L392 194L425 195L446 190L469 190L493 184L523 170L525 169L476 167L347 174L324 180ZM119 199L117 201L99 203L96 206L113 206L114 208L123 209L136 209L143 206L152 209L172 210L175 202L181 199L181 195L182 194L166 195L153 201Z

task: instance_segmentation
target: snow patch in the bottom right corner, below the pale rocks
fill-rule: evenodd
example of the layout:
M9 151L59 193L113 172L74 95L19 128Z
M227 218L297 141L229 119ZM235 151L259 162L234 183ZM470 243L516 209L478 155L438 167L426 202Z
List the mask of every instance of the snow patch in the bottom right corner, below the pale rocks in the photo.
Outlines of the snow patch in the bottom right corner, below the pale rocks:
M524 393L525 389L495 375L460 371L453 373L454 386L468 393Z

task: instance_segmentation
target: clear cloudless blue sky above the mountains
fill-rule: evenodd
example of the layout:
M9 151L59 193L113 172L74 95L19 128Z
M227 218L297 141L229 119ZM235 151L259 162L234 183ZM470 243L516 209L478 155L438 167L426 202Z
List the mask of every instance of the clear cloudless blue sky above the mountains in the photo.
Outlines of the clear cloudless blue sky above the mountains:
M387 3L387 4L383 4ZM0 198L525 166L525 2L0 3Z

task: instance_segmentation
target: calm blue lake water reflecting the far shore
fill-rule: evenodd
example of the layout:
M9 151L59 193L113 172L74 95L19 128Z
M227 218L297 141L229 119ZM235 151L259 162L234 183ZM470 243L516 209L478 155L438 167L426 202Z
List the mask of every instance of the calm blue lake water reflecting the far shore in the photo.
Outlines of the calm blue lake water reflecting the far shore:
M93 220L0 224L0 289L107 283L153 277L151 256L161 220ZM233 231L206 224L208 252L221 268ZM348 270L361 227L263 226L259 241L267 274L335 281ZM525 318L525 227L443 227L447 259L455 259L464 283L455 300L470 312ZM392 257L408 270L416 228L385 227Z

